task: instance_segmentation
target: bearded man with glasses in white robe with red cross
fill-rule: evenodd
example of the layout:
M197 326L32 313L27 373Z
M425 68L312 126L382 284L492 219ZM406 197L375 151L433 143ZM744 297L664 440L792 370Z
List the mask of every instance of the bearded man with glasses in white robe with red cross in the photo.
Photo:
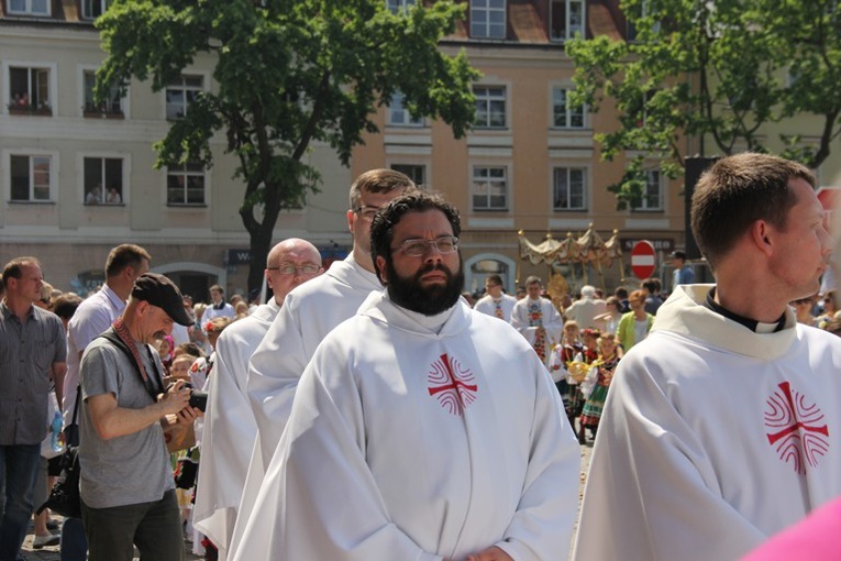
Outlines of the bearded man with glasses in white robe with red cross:
M458 232L424 193L379 211L388 294L316 351L235 559L566 556L578 446L530 345L460 300Z

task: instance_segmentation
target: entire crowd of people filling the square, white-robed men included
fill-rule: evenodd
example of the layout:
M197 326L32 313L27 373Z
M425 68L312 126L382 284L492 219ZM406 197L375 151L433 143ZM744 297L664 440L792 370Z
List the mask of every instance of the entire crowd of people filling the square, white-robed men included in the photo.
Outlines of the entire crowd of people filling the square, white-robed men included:
M193 304L134 244L84 300L12 260L0 561L55 475L51 393L81 464L63 561L180 560L185 539L240 561L777 559L763 543L811 510L839 526L841 312L814 186L774 156L717 163L691 209L717 283L675 251L670 295L530 276L511 296L489 275L472 305L458 211L388 169L351 186L348 256L324 271L281 241L259 306L219 285Z

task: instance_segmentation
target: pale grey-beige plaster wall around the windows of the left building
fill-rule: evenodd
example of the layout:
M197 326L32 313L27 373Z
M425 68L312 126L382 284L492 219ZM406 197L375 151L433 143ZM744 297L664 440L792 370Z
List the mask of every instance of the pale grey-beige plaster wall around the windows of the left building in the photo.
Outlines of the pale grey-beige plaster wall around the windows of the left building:
M244 185L233 178L236 161L224 154L223 135L212 141L214 166L204 172L204 204L169 205L166 170L154 169L152 147L170 124L165 92L133 81L122 101L123 118L86 117L84 73L96 70L102 58L89 24L0 25L0 262L38 256L47 280L84 292L96 284L110 248L131 242L153 254L155 271L184 278L197 292L215 282L229 293L245 292L247 265L229 261L233 250L248 248L239 215ZM19 67L48 72L52 114L19 114L10 107L10 68ZM208 57L185 70L200 76L204 89L215 88L211 74ZM12 155L49 157L49 200L11 200ZM120 205L85 204L86 157L122 160ZM343 255L350 246L350 169L325 145L314 146L308 160L321 172L321 193L306 209L281 213L275 238L309 239L325 254Z

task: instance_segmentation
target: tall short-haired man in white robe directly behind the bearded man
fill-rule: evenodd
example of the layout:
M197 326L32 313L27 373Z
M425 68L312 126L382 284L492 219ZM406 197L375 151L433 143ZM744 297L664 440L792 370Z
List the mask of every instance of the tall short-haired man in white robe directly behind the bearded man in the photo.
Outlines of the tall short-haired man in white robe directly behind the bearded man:
M394 169L372 169L351 186L347 228L353 251L320 277L296 288L286 297L248 364L247 393L257 440L232 537L235 551L244 522L254 504L272 455L286 427L295 388L312 353L327 334L353 316L372 290L383 286L370 258L370 221L379 207L414 183Z

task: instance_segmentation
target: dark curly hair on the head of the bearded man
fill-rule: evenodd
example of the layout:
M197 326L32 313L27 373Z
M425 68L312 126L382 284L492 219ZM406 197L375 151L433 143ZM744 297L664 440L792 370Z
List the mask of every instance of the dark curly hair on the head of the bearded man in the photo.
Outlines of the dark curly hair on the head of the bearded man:
M370 258L373 262L377 263L378 255L383 255L386 261L390 260L395 224L403 216L409 212L425 212L427 210L443 212L453 228L453 235L458 238L458 234L462 233L462 219L458 210L435 193L412 190L392 199L374 216L370 223ZM378 267L377 277L383 282Z

